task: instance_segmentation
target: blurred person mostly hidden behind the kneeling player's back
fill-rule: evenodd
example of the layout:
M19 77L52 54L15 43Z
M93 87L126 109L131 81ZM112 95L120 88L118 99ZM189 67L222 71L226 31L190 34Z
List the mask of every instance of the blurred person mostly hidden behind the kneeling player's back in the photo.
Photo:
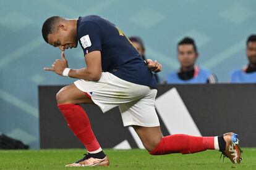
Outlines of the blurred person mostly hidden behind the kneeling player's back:
M130 41L132 41L132 44L137 48L140 56L142 57L143 60L146 60L145 57L145 46L141 38L139 36L130 36L129 37ZM153 73L155 78L156 78L156 83L159 83L159 78L157 73Z

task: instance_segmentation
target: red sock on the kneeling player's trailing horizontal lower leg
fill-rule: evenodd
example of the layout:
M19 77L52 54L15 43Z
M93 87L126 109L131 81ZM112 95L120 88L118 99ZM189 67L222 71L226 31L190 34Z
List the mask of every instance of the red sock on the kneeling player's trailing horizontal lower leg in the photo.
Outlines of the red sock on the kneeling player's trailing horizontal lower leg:
M195 153L215 149L214 137L195 137L185 134L165 136L151 152L151 155L165 155L169 153Z

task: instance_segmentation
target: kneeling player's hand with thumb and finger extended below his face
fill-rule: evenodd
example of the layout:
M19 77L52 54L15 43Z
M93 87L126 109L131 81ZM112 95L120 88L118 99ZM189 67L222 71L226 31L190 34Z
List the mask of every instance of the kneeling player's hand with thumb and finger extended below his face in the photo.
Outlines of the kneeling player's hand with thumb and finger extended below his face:
M63 73L63 70L65 68L67 68L68 65L67 65L67 60L65 58L65 54L64 54L64 51L62 51L61 53L61 59L57 59L55 60L55 62L53 63L53 65L51 65L51 68L43 68L44 70L46 71L53 71L54 73L58 74L58 75L61 75L62 76L62 73Z

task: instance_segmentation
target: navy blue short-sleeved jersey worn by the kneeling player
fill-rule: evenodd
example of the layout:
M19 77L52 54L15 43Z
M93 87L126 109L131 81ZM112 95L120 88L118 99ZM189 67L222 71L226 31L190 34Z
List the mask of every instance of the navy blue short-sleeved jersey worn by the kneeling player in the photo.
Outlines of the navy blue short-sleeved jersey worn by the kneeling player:
M96 15L79 17L77 39L86 55L101 51L101 68L130 83L156 88L156 79L126 35Z

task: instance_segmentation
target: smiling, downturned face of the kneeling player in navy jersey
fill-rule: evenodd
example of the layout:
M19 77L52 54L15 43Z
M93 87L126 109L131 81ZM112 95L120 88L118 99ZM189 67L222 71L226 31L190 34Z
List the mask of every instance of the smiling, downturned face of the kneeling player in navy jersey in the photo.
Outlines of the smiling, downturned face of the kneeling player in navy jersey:
M59 25L57 31L48 35L48 43L65 51L65 49L77 47L77 35L74 31L68 30L66 26Z

